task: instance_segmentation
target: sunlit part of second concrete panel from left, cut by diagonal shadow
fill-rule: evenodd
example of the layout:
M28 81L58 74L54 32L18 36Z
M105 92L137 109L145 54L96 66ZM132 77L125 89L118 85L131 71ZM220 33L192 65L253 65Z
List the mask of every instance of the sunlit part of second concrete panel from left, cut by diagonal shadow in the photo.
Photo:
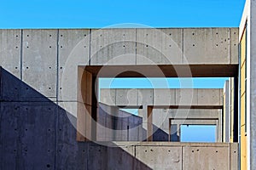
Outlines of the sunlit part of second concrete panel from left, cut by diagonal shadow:
M38 93L55 100L57 30L24 30L22 43L22 80Z

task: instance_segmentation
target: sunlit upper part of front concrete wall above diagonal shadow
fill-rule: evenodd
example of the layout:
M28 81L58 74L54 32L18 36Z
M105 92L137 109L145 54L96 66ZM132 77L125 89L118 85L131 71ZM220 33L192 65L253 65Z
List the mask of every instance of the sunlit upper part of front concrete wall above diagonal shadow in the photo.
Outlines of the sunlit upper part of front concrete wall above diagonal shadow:
M53 101L75 101L77 82L61 82L76 77L78 65L145 65L147 59L143 58L151 60L149 65L238 64L236 31L238 28L0 30L0 65Z

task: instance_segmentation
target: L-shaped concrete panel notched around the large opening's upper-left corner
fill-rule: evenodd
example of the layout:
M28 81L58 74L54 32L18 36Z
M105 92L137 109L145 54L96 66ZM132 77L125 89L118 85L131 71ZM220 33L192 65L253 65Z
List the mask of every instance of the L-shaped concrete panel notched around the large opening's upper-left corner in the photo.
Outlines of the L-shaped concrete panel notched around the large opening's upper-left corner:
M58 98L77 100L78 65L89 65L90 30L59 30Z

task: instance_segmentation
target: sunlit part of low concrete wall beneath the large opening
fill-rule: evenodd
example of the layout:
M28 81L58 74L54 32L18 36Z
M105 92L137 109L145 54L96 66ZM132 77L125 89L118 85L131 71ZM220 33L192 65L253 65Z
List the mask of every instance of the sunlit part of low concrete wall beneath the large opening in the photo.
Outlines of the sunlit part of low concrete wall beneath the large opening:
M238 169L237 144L143 142L130 148L151 169Z

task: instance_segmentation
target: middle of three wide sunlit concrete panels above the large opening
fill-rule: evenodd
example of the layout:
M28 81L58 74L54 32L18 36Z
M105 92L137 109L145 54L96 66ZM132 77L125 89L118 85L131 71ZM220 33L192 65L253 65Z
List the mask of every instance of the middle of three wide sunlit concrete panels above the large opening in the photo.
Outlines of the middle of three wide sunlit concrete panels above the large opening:
M137 29L137 65L183 63L183 29Z

